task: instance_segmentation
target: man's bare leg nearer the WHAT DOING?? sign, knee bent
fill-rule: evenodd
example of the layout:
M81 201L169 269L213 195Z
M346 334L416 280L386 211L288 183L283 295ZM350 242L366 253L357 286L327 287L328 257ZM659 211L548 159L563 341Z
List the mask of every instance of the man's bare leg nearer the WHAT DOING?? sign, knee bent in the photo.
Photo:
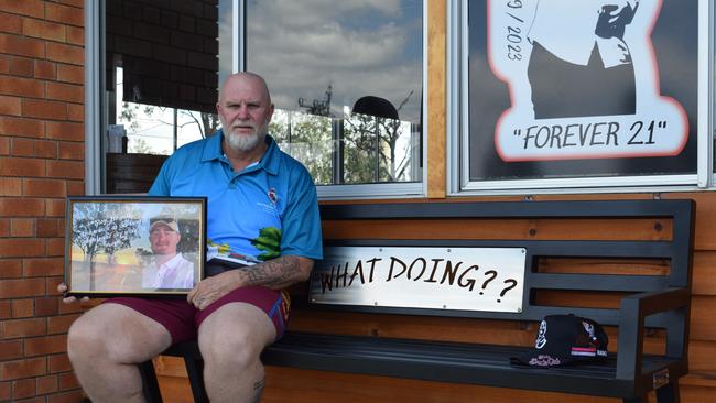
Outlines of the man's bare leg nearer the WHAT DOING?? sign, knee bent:
M209 400L259 402L263 391L260 355L276 336L267 314L253 305L227 304L202 323L198 334Z

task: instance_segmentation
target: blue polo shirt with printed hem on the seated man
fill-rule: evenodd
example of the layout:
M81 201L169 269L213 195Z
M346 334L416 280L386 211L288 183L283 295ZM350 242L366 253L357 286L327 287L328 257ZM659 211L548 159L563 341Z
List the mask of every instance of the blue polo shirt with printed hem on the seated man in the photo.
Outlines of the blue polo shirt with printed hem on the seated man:
M207 260L322 259L316 187L308 171L267 135L261 161L234 172L223 140L219 130L176 150L149 195L207 197Z

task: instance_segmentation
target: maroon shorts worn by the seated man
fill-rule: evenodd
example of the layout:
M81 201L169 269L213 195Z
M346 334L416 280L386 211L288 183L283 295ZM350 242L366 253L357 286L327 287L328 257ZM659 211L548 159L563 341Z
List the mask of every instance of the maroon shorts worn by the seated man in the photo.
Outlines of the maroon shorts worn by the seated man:
M196 339L197 329L204 319L214 311L235 302L251 304L265 312L276 329L276 339L283 335L291 306L289 294L284 291L261 286L237 288L215 301L204 311L197 309L186 299L117 297L105 301L105 303L128 306L159 322L172 335L172 342Z

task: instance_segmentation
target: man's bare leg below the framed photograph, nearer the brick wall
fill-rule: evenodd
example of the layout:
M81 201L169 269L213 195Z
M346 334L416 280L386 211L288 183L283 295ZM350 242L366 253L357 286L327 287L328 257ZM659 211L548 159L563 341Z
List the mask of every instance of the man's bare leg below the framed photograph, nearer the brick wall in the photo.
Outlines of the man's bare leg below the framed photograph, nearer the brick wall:
M93 403L143 402L137 363L172 342L159 323L119 304L99 305L69 328L67 355Z

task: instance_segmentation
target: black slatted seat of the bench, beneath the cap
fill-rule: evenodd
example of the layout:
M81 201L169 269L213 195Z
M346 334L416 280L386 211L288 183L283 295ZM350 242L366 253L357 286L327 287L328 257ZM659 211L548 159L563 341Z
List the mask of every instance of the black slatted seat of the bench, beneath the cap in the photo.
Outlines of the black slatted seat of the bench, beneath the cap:
M489 384L622 397L637 393L632 382L616 379L616 357L600 363L561 368L511 366L509 357L528 347L431 342L288 333L267 348L265 364L348 373L368 373L428 381ZM644 355L644 369L653 372L676 363ZM644 373L649 377L650 373ZM572 385L572 386L571 386Z

